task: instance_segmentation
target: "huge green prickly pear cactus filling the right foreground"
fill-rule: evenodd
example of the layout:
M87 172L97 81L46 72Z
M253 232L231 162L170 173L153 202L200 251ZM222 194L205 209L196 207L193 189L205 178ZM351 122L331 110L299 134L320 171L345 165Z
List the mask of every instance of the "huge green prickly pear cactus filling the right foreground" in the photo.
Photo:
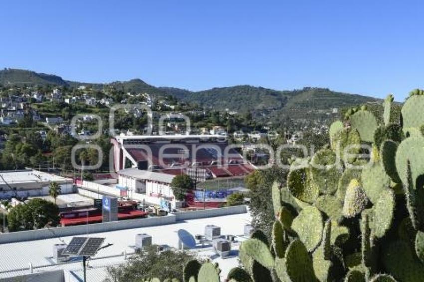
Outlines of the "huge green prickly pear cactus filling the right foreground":
M424 281L424 91L401 120L398 106L389 96L382 119L349 109L330 127L331 149L293 159L286 185L271 189L270 240L244 241L229 281Z

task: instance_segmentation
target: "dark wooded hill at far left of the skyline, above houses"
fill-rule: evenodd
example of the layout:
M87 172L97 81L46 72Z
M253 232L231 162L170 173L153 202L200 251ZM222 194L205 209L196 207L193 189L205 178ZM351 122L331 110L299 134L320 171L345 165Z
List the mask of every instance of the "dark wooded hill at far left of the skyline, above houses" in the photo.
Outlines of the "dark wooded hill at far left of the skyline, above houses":
M0 84L33 86L33 85L68 85L60 76L36 73L29 70L3 69L0 70Z

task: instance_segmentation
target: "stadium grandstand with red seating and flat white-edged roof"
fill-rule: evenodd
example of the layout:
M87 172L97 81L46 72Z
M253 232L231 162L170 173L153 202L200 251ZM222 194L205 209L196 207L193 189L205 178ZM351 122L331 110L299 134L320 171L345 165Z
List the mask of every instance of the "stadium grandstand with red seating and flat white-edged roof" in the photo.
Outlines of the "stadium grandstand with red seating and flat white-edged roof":
M208 178L242 177L254 170L221 135L116 136L115 171L147 163L147 169L166 174L203 168Z

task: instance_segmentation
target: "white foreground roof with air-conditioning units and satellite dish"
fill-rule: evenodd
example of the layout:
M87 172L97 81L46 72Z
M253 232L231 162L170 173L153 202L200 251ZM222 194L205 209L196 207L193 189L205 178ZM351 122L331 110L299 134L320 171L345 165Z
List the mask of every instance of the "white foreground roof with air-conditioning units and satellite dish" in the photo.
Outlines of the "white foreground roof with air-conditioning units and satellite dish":
M175 224L126 229L102 233L87 234L88 237L103 237L104 244L113 244L102 249L91 260L87 274L91 277L90 282L103 281L106 275L106 267L123 263L124 251L130 255L134 253L131 246L135 244L135 236L139 233L147 233L152 236L152 243L157 245L168 245L178 248L177 231L186 229L192 235L204 234L205 226L214 224L221 228L221 235L242 235L244 224L250 223L251 218L248 213L226 215L210 218L201 218L180 221ZM53 229L54 230L54 229ZM79 235L84 236L84 235ZM72 237L61 238L66 244ZM242 240L242 239L241 239ZM58 238L34 240L26 242L16 242L0 245L0 279L29 274L29 263L32 264L33 273L40 273L51 270L64 270L66 281L70 277L80 276L82 264L75 261L66 264L55 264L52 260L52 248L54 244L60 244ZM238 244L233 244L233 250L238 249ZM193 249L200 257L209 257L213 262L217 262L221 269L221 280L226 278L229 270L238 266L236 256L221 259L217 257L211 247Z

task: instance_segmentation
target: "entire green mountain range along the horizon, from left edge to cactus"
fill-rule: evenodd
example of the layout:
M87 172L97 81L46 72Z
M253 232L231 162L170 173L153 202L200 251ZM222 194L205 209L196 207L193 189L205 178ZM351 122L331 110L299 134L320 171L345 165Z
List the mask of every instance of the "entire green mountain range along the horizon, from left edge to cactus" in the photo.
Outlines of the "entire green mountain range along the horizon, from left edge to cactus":
M85 83L62 79L58 75L36 73L29 70L0 70L0 84L3 86L35 86L57 85L78 87L89 85L93 89L113 86L117 90L149 93L153 96L171 95L185 102L197 103L216 110L256 111L260 113L290 114L296 116L301 112L328 111L333 108L349 107L364 103L381 101L380 99L336 92L326 88L305 87L299 90L273 90L250 85L212 88L203 91L190 91L172 87L155 87L141 79L116 81L111 83Z

